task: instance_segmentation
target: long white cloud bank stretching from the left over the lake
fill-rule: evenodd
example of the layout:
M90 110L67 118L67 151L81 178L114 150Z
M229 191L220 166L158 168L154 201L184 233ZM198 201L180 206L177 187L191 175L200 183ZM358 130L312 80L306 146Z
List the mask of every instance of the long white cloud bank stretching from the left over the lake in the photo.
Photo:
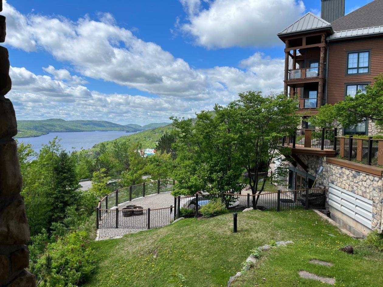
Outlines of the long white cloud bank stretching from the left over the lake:
M171 115L193 116L201 109L211 109L214 103L227 104L245 90L267 93L283 88L283 60L264 54L242 60L239 68L195 69L159 45L118 27L107 13L100 14L98 21L85 16L73 22L63 17L22 15L4 2L3 14L13 23L7 27L8 46L25 51L43 49L65 65L69 63L69 70L81 76L156 95L91 91L84 78L52 65L43 68L51 76L13 67L8 95L15 101L18 118L164 121ZM17 29L21 26L24 30Z

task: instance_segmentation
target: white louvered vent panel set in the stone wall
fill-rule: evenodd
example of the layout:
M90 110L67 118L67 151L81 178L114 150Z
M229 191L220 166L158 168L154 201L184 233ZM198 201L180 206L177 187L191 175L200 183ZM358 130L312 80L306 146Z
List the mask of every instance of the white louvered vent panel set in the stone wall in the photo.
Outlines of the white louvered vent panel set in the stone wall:
M329 205L371 228L372 201L369 199L330 184Z

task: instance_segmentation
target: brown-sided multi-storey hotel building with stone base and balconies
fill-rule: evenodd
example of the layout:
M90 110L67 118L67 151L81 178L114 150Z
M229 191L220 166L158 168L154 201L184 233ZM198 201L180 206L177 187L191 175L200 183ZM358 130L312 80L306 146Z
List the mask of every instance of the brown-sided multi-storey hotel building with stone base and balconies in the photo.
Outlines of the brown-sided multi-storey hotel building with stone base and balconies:
M282 145L293 159L288 188L311 188L316 179L316 187L328 189L332 219L362 236L382 232L383 140L357 138L378 132L368 121L337 130L309 121L323 104L355 95L383 73L383 0L344 11L345 0L321 0L321 17L309 12L278 33L285 43L284 93L298 95L303 113L302 126Z

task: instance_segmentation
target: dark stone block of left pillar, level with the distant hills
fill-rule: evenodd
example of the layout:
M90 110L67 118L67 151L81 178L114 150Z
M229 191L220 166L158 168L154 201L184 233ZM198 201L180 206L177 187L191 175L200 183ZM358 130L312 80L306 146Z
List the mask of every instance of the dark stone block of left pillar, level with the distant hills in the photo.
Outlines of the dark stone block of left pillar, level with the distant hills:
M15 110L9 99L0 99L0 138L11 138L17 134Z

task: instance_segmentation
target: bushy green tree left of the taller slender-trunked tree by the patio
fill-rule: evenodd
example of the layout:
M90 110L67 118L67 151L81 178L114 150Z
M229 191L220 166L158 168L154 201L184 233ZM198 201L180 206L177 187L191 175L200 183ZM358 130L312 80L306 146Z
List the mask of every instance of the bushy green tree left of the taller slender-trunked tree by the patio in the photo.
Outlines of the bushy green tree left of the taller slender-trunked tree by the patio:
M238 192L242 189L239 141L234 132L236 109L216 105L215 116L201 111L193 124L191 119L172 117L177 132L175 195Z

